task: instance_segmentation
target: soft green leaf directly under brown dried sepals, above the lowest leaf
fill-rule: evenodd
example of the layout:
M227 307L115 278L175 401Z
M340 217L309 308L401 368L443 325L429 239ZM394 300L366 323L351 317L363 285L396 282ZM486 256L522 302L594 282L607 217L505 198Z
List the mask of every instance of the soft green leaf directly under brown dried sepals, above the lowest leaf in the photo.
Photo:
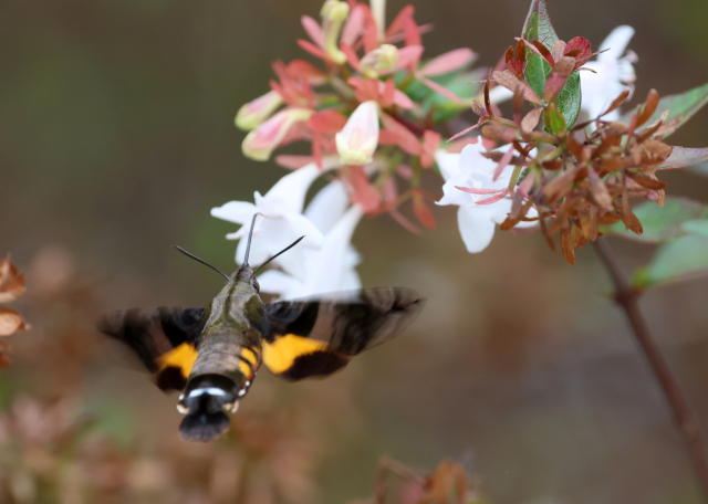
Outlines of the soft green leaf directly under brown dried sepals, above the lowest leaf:
M688 222L708 219L708 207L686 198L666 198L664 207L645 201L632 211L644 228L641 235L627 231L622 222L605 227L603 231L643 243L663 243L687 234L689 230L685 225Z

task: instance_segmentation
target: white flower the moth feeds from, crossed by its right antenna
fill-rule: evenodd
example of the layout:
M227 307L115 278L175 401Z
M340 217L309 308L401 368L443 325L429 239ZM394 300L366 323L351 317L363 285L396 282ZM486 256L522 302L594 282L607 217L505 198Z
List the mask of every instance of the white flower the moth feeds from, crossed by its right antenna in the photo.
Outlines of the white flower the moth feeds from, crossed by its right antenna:
M237 232L227 234L226 238L229 240L246 237L253 214L263 214L256 220L253 228L249 258L249 262L253 265L264 262L304 235L304 240L298 246L279 258L283 267L289 262L298 264L302 261L303 250L322 245L322 232L302 214L308 189L321 174L322 170L314 162L303 166L280 179L266 196L256 191L256 203L230 201L211 209L211 214L218 219L243 224ZM236 251L236 261L239 264L246 256L246 242L241 240Z

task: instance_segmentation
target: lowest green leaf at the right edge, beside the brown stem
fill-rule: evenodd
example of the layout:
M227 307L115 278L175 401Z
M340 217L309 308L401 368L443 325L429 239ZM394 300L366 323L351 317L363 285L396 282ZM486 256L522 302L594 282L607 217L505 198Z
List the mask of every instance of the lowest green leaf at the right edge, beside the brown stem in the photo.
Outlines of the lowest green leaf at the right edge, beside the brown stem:
M638 287L708 274L708 235L687 234L663 244L652 262L633 279Z

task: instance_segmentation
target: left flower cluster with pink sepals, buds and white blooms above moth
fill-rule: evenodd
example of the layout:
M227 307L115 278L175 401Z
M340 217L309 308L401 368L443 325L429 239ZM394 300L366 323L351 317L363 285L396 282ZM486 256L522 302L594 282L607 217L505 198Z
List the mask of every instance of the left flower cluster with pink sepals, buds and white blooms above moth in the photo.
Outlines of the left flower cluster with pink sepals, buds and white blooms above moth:
M266 292L292 297L357 287L358 256L350 241L365 213L388 212L418 232L398 210L410 200L418 222L435 225L426 200L437 198L420 189L421 172L434 166L442 141L434 126L450 109L467 108L472 97L470 86L460 97L440 82L467 83L471 75L464 70L476 55L458 49L423 63L421 34L428 28L416 23L414 8L404 8L387 28L384 12L382 0L371 6L326 0L321 22L302 18L311 41L298 41L324 69L303 60L274 63L271 91L237 114L236 125L249 130L242 145L247 157L267 160L294 140L312 146L311 156L275 158L294 171L266 196L257 192L253 203L231 201L211 211L239 224L254 213L264 216L254 228L253 263L306 237L275 260L279 271L261 276ZM322 175L331 181L305 208L306 192ZM399 191L400 182L409 188ZM241 228L227 238L244 233ZM241 242L237 261L244 252Z

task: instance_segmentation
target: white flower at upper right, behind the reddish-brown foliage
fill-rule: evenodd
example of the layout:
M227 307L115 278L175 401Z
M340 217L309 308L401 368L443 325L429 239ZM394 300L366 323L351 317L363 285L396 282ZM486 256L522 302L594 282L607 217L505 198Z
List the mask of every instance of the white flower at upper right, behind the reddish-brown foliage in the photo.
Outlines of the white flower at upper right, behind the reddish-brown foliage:
M597 61L585 63L584 67L595 71L581 72L580 85L583 93L581 108L587 113L591 119L605 112L610 104L625 90L634 90L636 75L632 63L636 63L634 52L625 49L634 35L634 28L622 25L615 28L600 45L600 51L607 50L597 55ZM620 117L620 111L615 109L603 117L605 120L615 120Z

